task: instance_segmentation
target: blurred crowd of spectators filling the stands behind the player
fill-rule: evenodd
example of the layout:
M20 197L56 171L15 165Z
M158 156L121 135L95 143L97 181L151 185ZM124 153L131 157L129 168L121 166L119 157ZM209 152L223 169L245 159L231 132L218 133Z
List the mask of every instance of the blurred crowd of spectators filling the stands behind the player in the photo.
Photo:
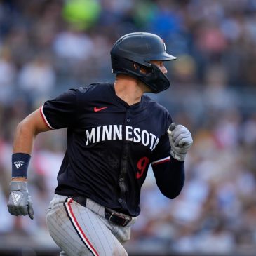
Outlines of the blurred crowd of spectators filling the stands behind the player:
M38 135L29 165L35 217L13 217L15 127L62 90L114 81L109 50L138 31L159 34L178 57L167 65L170 89L151 97L194 145L174 200L149 170L127 248L255 253L256 0L0 1L0 248L53 245L45 217L65 151L65 129Z

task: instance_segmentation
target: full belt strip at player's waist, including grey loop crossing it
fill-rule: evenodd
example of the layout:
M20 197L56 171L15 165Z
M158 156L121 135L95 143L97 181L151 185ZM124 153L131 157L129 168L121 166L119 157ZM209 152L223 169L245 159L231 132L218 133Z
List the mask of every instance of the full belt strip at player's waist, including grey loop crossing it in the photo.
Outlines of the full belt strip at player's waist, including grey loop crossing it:
M85 206L86 208L92 210L99 215L102 215L102 217L105 217L105 219L119 226L126 227L133 220L133 217L129 215L125 215L123 213L116 212L110 208L100 206L98 203L89 198L84 198L83 196L72 196L72 198L74 199L74 201L81 204L81 206ZM97 210L95 210L95 204L97 205ZM103 211L100 211L100 208L103 208Z

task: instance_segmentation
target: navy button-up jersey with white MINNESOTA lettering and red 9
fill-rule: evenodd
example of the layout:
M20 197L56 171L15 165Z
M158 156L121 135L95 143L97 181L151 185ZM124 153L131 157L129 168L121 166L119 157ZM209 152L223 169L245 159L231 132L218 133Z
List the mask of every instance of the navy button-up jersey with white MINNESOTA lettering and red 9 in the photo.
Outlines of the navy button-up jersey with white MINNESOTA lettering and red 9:
M95 83L46 101L41 114L50 128L67 127L55 194L137 216L149 164L170 161L168 111L147 95L129 106L113 83Z

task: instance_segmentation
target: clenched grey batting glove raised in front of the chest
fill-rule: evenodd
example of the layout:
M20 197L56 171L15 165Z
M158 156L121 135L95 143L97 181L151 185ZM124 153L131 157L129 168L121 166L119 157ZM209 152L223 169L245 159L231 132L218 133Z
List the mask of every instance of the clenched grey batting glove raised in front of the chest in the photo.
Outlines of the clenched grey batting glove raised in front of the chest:
M170 141L170 154L173 158L184 161L187 151L189 151L193 144L192 136L189 130L178 124L171 123L168 130L169 141Z

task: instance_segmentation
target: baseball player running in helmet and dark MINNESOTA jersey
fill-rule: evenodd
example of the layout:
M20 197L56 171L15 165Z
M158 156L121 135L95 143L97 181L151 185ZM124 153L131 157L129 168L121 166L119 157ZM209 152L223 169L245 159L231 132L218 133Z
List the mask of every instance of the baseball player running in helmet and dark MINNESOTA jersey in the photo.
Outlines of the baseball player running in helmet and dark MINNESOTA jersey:
M46 216L60 255L127 255L123 243L140 214L151 164L168 198L180 194L191 133L144 93L168 89L163 40L122 36L111 50L114 83L73 88L27 116L15 132L8 210L33 219L27 168L38 133L67 127L67 150Z

